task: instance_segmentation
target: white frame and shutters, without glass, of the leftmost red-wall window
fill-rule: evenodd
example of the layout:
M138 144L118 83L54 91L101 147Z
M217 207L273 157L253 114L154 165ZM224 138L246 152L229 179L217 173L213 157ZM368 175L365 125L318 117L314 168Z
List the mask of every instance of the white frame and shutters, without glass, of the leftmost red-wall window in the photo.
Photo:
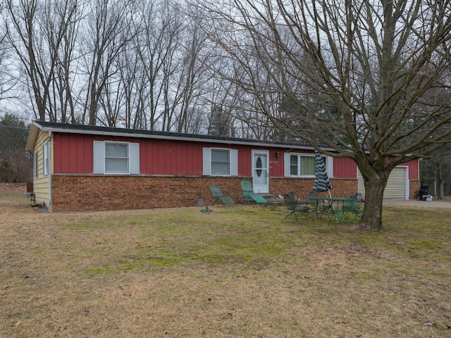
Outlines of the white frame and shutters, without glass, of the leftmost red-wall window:
M94 174L133 175L140 173L140 144L132 142L94 141ZM108 144L127 145L128 168L121 173L110 173L106 168L106 146Z

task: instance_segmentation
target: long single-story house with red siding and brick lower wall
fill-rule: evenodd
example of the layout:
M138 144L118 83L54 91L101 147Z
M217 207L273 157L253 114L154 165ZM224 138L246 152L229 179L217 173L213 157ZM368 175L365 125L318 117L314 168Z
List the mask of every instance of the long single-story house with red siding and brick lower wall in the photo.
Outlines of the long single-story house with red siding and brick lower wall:
M314 184L314 149L297 143L33 122L27 150L35 199L51 211L210 205L209 184L239 201L242 180L275 196L307 196ZM325 163L335 196L362 191L352 160ZM419 162L397 169L388 192L414 198Z

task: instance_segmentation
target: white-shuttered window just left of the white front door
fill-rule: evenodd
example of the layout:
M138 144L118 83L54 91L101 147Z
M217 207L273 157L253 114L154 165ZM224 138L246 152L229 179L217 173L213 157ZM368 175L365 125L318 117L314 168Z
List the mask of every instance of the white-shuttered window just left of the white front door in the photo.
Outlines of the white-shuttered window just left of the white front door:
M204 148L204 175L238 175L237 149Z

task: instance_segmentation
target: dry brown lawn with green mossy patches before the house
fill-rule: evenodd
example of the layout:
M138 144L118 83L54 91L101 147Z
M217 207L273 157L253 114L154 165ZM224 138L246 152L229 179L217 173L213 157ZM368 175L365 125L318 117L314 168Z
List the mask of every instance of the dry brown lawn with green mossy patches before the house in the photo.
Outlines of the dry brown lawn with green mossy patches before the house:
M451 215L42 213L0 193L0 337L450 337Z

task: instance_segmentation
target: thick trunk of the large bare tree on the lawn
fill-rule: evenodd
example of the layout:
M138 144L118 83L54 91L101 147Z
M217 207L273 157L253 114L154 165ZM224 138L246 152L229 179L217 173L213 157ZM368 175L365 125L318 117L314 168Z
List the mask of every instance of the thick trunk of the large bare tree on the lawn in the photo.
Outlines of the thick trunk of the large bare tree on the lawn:
M387 170L388 171L388 170ZM361 229L383 230L382 210L383 210L383 192L387 185L390 172L373 170L371 177L364 177L365 184L365 207L358 226Z

